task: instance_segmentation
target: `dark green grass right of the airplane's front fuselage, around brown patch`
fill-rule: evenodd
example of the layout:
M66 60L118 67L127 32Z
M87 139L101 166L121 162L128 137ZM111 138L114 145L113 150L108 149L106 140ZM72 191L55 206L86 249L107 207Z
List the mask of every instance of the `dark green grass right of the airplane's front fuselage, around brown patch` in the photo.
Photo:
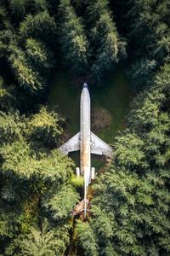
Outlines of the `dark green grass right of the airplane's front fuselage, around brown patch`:
M92 90L92 108L105 108L111 116L110 125L98 136L106 143L113 143L117 131L125 127L125 118L129 111L129 103L132 100L133 92L124 71L119 68L105 80L101 88Z

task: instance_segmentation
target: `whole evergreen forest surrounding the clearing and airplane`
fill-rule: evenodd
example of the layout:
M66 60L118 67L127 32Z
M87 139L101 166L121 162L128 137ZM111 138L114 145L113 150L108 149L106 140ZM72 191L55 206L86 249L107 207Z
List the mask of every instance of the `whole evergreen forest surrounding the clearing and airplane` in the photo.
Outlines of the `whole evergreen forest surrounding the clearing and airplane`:
M169 17L169 0L0 0L0 255L170 255ZM126 124L74 217L83 180L57 149L69 123L50 81L62 68L107 91L117 67Z

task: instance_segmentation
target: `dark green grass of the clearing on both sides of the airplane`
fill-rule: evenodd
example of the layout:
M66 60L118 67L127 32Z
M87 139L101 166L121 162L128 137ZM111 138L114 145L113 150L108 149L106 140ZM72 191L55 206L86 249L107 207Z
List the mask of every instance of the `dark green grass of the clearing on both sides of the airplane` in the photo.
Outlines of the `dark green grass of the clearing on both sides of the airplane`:
M127 76L122 68L117 68L100 87L94 87L93 84L88 84L88 87L92 111L94 108L105 108L111 116L110 125L95 133L106 143L113 143L117 131L125 128L125 118L129 111L129 103L133 98ZM64 70L56 72L50 85L48 102L51 106L58 105L59 113L65 117L72 136L80 130L81 91L82 86L78 86L77 82L71 79L71 76ZM79 154L71 154L71 157L78 165ZM103 161L93 156L92 166L98 169L103 166Z

